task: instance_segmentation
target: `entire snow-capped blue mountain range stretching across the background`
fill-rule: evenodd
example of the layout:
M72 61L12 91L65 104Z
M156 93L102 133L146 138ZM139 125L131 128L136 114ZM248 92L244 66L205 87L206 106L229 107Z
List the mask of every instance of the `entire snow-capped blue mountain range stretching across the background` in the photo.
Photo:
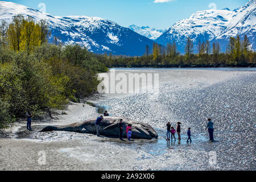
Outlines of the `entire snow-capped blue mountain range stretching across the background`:
M49 42L58 37L64 44L80 44L94 53L112 53L113 55L141 56L146 46L155 43L166 46L176 42L177 50L184 53L186 39L189 36L195 44L209 40L219 42L221 51L226 51L230 36L246 34L251 48L256 50L255 24L256 0L250 0L245 6L230 11L197 11L188 19L180 20L167 30L157 30L148 26L122 27L119 24L98 17L90 16L52 16L38 10L12 2L0 1L0 20L7 22L16 14L31 16L36 21L46 19L51 30ZM168 26L168 25L167 25Z

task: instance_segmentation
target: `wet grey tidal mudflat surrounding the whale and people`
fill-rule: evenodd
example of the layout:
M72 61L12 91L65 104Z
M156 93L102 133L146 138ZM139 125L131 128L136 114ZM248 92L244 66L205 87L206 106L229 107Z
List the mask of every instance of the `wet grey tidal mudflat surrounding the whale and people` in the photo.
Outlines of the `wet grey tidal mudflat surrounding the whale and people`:
M59 121L33 123L28 133L19 124L0 139L0 169L22 170L255 170L255 69L116 69L116 73L159 73L159 94L103 94L92 99L112 115L150 124L153 140L121 142L91 134L53 131L61 125L98 115L82 104L69 106ZM142 85L143 87L143 85ZM208 141L207 118L215 126ZM166 142L166 123L181 122L181 142ZM36 125L36 126L35 126ZM191 127L192 143L187 143ZM38 163L38 152L46 164Z

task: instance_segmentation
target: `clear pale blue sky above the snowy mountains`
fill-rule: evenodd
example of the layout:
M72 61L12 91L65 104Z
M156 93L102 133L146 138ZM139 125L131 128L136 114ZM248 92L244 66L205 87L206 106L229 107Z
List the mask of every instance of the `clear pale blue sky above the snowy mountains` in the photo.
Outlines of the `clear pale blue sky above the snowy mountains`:
M167 1L167 2L166 2ZM121 26L136 24L155 28L168 28L178 20L188 18L199 10L228 7L230 10L243 6L247 0L13 0L40 9L45 3L46 13L57 16L86 15L113 20Z

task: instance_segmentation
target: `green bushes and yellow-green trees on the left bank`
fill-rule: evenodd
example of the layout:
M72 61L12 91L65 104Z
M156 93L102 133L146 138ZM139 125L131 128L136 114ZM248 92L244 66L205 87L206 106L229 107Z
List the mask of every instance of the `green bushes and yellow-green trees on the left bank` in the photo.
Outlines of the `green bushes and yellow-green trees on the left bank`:
M49 44L48 24L22 15L0 25L0 129L24 117L62 109L97 90L98 72L108 71L80 46Z

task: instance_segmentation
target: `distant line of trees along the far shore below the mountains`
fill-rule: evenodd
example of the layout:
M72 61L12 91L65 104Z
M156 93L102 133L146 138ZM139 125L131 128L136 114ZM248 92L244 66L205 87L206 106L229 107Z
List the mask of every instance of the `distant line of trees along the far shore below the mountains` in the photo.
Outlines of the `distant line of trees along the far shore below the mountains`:
M230 37L226 52L220 51L218 42L210 45L209 41L198 43L197 53L194 45L187 38L185 55L177 51L176 43L169 43L166 47L154 44L152 51L146 46L146 53L141 57L113 56L111 53L101 56L101 62L107 67L255 67L256 53L251 51L251 44L245 35ZM149 52L152 52L149 54Z

